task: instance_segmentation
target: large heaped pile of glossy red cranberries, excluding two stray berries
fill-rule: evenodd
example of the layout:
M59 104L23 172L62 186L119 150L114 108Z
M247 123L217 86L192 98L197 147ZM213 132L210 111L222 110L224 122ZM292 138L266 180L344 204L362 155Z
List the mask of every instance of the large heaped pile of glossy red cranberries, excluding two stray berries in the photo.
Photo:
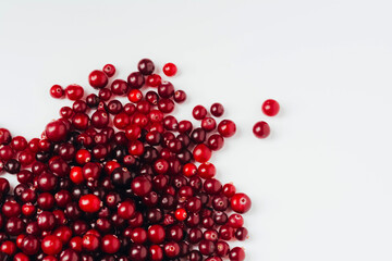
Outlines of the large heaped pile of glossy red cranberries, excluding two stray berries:
M230 120L193 110L199 121L171 113L186 99L143 59L126 80L115 67L93 71L97 90L54 85L54 98L72 107L27 141L0 128L0 260L13 261L242 261L247 238L242 214L250 199L222 185L209 162L235 134ZM176 66L163 67L167 76ZM127 97L123 104L117 97Z

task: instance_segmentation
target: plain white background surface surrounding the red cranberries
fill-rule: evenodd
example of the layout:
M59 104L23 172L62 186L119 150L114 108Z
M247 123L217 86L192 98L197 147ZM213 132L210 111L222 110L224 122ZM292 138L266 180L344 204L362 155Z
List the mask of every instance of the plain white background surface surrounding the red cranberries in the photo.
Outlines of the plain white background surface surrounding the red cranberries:
M392 260L392 3L1 1L0 125L37 137L69 101L51 85L142 58L177 64L194 105L220 101L238 132L218 177L253 199L252 261ZM261 113L264 100L279 116ZM268 121L271 136L252 126Z

